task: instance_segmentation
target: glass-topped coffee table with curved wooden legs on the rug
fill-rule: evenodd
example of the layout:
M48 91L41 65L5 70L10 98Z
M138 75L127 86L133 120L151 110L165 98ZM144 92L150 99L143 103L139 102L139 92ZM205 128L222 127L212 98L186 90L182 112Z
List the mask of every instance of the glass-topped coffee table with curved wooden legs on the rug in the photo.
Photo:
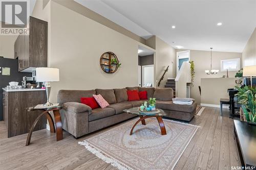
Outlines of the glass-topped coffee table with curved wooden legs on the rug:
M166 116L166 113L162 109L158 109L158 110L160 110L160 113L157 113L157 114L141 113L141 112L139 112L139 109L137 107L134 107L132 109L123 110L126 113L137 114L140 117L140 119L134 124L134 126L130 132L130 135L133 134L133 130L138 123L141 122L142 125L146 125L145 119L151 118L151 117L157 118L159 126L160 126L160 130L161 130L161 135L166 135L165 126L164 126L163 119L162 119L163 116Z

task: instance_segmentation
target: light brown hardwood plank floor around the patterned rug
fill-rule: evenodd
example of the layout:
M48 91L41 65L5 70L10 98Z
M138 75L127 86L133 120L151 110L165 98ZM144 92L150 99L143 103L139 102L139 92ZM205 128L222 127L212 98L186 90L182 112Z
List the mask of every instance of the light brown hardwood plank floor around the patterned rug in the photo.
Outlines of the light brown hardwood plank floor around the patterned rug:
M228 110L223 113L220 117L218 108L206 107L201 116L196 115L191 120L189 124L200 128L178 161L176 170L240 166L233 138L233 119L228 118ZM115 126L77 140L63 131L63 140L58 142L55 134L40 130L33 132L31 144L25 147L27 134L7 138L5 124L0 121L0 169L115 169L77 143Z

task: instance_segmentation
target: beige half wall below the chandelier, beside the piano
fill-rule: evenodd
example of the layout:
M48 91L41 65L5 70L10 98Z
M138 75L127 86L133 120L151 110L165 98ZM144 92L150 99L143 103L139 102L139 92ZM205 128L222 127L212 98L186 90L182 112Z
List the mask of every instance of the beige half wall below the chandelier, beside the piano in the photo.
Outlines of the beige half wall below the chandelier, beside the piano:
M220 99L229 99L227 89L236 86L237 78L201 79L201 104L220 105Z

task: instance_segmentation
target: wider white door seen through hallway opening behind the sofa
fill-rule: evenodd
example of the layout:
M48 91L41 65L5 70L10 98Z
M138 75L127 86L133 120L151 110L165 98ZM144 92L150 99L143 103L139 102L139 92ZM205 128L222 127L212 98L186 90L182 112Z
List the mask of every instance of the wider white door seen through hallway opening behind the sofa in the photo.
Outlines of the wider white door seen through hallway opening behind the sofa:
M146 87L147 84L151 84L151 87L154 87L154 65L142 66L142 86Z

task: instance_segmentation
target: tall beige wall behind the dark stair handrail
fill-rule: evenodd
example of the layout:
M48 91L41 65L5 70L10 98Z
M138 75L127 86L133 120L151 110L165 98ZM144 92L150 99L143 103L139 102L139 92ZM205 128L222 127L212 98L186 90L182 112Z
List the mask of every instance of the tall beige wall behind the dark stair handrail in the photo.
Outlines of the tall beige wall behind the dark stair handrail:
M175 78L176 74L176 50L158 37L156 39L156 55L155 55L155 67L156 67L156 87L158 81L161 79L164 70L169 65L169 69L166 72L164 79L159 87L164 87L167 82L167 78ZM154 44L154 43L153 43ZM154 46L153 46L154 47Z

